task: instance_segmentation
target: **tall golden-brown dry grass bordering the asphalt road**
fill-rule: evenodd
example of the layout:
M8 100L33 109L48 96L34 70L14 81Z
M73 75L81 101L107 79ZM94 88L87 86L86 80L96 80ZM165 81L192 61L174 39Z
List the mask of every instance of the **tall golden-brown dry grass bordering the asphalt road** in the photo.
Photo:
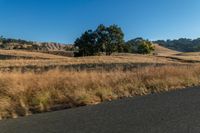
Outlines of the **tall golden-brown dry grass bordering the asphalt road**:
M199 84L199 65L145 67L126 72L1 72L0 118L16 118L59 107L97 104Z

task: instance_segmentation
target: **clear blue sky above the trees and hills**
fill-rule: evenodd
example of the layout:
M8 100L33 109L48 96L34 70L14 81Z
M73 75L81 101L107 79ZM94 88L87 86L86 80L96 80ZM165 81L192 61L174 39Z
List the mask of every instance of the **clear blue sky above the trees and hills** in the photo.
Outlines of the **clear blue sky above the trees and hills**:
M73 43L87 29L117 24L125 40L200 37L200 0L0 0L0 35Z

